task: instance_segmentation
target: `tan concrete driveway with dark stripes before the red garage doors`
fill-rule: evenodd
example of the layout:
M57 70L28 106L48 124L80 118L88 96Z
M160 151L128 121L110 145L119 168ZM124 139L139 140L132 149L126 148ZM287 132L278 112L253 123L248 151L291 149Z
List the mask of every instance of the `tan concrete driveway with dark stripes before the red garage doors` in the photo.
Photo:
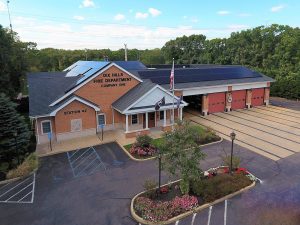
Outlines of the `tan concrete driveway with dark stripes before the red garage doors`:
M211 127L224 139L230 140L234 130L236 144L272 160L300 152L300 111L264 106L205 117L191 114L191 121Z

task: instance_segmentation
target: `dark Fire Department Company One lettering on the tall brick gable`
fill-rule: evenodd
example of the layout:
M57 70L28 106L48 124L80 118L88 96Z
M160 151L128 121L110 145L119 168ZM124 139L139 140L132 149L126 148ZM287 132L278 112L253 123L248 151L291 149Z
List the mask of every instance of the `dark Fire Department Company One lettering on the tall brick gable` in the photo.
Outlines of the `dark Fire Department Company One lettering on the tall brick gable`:
M102 77L94 80L94 83L100 84L101 87L121 87L131 81L131 77L124 77L123 73L104 73Z

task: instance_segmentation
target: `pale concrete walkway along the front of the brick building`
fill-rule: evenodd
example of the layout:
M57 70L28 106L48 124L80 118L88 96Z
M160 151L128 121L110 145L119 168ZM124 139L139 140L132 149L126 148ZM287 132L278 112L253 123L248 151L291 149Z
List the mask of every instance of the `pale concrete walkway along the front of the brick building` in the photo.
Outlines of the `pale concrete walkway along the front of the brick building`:
M153 128L151 129L150 136L155 139L161 137L162 134L163 132L160 129ZM40 144L37 145L36 152L39 156L44 156L114 141L117 141L120 145L132 144L136 141L136 138L126 138L124 130L104 131L103 141L101 139L101 133L98 133L97 135L76 138L62 142L53 142L52 149L50 148L50 143Z

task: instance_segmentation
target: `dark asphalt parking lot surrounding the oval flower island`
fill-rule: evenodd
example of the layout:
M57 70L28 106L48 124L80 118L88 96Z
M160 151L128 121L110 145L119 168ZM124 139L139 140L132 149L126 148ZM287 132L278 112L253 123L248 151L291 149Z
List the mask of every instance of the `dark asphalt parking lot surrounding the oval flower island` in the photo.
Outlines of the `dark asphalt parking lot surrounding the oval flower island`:
M201 167L220 165L220 156L229 154L230 149L226 140L204 147L207 157ZM239 145L234 145L234 154L241 157L241 166L263 183L195 214L194 225L220 225L224 220L227 225L240 225L252 222L266 208L299 208L300 154L275 162ZM0 202L1 225L137 225L130 216L130 200L143 190L145 179L157 179L157 175L155 160L132 161L116 143L43 157L35 176L33 202ZM168 180L163 174L162 182ZM2 187L0 195L5 192ZM192 221L189 216L176 225L192 225Z

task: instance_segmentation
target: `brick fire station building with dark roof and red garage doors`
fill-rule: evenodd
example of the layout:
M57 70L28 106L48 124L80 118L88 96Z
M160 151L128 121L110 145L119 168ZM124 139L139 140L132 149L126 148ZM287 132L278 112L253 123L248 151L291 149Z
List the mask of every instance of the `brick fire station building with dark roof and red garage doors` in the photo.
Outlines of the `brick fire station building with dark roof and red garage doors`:
M169 91L171 66L147 68L138 61L78 61L61 72L28 74L29 116L37 143L62 141L119 129L126 137L169 130L183 108L210 113L269 103L274 80L243 66L175 67L175 97ZM155 105L164 97L159 110Z

